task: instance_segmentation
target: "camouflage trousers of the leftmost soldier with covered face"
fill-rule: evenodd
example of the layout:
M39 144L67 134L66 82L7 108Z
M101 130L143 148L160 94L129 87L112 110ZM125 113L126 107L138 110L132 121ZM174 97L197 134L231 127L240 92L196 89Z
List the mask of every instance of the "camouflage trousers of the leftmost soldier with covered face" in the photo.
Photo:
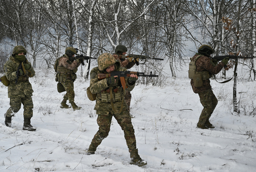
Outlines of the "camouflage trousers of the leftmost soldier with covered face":
M10 108L6 111L7 117L13 117L20 109L21 104L23 105L23 116L24 118L32 118L33 117L33 101L32 97L18 97L18 98L10 98Z

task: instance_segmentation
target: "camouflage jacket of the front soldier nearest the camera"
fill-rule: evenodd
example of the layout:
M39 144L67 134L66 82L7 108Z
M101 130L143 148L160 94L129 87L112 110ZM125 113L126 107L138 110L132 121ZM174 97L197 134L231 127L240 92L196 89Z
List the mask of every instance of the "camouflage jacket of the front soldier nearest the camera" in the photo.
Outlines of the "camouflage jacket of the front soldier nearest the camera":
M126 68L120 67L116 71L127 71ZM110 105L110 102L103 102L101 99L101 94L106 94L106 90L109 89L110 87L107 84L106 79L98 80L97 74L100 73L105 73L104 71L100 71L98 67L94 67L92 71L90 71L90 91L93 94L97 94L96 96L96 105L94 107L94 110L97 110L97 114L104 114L108 115L109 111L111 111L112 107ZM127 78L126 78L126 83L127 83L127 89L126 91L132 91L133 88L135 87L135 83L133 85L129 85ZM117 83L114 85L113 89L118 89L119 92L121 92L121 97L123 97L123 88L120 86L121 84ZM114 94L114 91L113 91ZM108 93L108 96L110 96L110 93ZM123 102L123 111L127 110L127 105L126 102ZM116 109L120 109L121 107L121 101L114 102L114 106ZM113 112L112 112L113 113Z

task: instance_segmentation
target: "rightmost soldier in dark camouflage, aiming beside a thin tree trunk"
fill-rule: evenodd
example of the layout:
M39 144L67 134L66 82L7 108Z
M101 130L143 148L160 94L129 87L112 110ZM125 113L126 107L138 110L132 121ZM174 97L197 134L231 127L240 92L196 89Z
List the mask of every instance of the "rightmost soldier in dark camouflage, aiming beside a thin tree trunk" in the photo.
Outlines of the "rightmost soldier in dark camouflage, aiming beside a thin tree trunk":
M204 107L197 123L197 128L202 129L214 128L209 122L209 118L218 103L209 78L213 74L218 74L229 61L229 58L225 58L217 64L217 61L210 60L210 54L212 53L213 49L209 45L202 45L198 49L198 53L191 58L191 62L195 62L195 66L191 65L192 63L189 64L189 71L196 68L195 75L190 77L193 92L199 94L200 102Z

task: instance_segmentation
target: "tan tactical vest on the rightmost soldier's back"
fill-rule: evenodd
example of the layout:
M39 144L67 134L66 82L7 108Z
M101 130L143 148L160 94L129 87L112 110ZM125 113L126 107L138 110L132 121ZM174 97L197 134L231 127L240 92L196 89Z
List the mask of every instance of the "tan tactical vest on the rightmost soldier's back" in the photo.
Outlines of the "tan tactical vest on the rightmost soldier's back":
M191 62L189 63L188 78L193 79L195 87L202 87L203 81L210 78L210 74L208 71L203 71L203 72L196 71L196 61L201 56L202 55L199 55L195 59L190 58Z

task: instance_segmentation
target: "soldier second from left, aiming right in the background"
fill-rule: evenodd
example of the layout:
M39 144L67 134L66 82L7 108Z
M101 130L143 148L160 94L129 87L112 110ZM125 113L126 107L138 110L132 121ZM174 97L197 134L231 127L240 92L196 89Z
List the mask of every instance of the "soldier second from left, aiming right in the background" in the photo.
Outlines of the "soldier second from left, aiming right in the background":
M57 71L56 81L59 81L63 85L65 91L67 92L63 97L63 101L61 102L60 108L68 109L72 106L74 111L81 109L80 106L77 106L75 104L74 91L74 81L76 80L76 72L81 62L79 59L76 59L73 62L69 60L70 57L75 57L76 53L76 49L72 46L69 46L65 49L65 54L58 58L55 62ZM67 100L69 100L71 106L67 105Z

